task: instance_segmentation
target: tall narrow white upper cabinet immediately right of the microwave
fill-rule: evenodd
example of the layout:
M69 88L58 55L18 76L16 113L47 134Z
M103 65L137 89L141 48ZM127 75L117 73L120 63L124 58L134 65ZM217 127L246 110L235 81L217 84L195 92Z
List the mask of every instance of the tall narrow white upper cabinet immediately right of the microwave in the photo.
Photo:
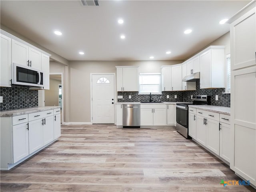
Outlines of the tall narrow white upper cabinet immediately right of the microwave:
M43 72L43 86L44 86L44 89L50 89L50 85L49 85L50 58L48 55L42 53L41 59L42 59L41 70Z

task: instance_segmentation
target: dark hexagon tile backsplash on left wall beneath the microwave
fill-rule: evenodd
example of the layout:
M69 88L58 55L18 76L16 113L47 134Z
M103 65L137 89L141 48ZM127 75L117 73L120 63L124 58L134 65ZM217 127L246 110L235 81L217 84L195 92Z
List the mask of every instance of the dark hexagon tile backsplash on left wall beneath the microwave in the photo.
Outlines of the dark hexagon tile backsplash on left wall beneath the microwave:
M30 90L28 87L1 87L0 96L3 96L1 111L38 106L38 90Z

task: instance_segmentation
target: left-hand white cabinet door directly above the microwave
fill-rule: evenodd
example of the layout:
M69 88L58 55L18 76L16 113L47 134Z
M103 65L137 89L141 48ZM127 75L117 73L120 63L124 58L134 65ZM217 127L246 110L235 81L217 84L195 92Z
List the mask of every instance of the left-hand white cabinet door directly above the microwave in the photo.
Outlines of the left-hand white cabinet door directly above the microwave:
M28 45L12 39L12 63L28 66Z

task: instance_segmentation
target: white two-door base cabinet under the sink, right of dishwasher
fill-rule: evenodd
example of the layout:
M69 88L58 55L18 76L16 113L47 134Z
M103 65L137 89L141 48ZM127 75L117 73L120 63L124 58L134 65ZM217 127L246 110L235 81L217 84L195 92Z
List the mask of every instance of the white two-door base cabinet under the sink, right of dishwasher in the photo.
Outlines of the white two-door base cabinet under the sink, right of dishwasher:
M165 126L166 105L165 104L142 104L140 105L141 126Z

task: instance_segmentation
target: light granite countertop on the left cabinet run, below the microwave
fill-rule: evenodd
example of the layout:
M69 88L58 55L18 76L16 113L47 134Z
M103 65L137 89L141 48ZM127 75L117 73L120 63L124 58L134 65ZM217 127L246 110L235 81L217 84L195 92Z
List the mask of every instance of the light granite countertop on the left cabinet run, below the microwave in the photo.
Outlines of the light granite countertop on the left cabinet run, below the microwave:
M12 116L17 116L17 115L24 115L24 114L46 111L46 110L51 110L51 109L58 109L58 108L60 108L60 106L31 107L31 108L6 110L6 111L1 111L0 116L1 117L12 117Z

